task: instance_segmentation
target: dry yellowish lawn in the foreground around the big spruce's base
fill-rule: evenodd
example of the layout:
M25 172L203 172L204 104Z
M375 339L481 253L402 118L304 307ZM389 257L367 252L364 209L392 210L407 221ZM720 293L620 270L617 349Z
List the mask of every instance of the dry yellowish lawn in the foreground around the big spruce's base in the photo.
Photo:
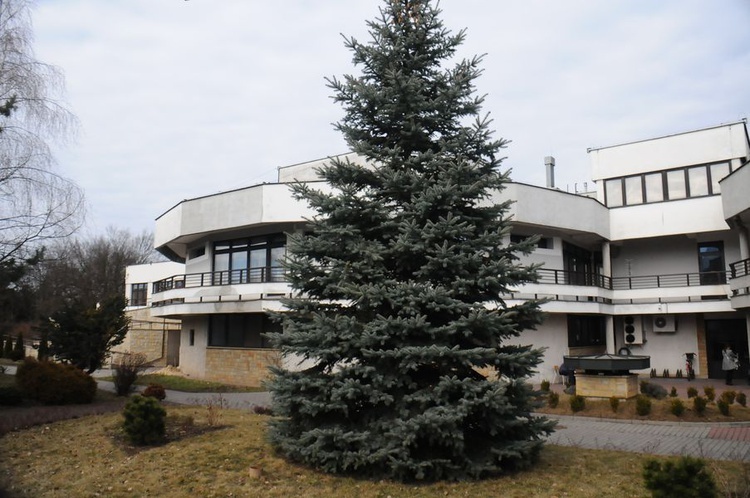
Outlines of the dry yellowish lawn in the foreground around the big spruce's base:
M6 434L0 439L0 490L14 497L649 496L641 478L644 457L637 454L547 446L529 471L479 482L401 484L291 465L265 442L265 416L224 410L223 425L212 428L205 407L167 411L172 421L192 418L194 424L173 430L170 441L157 447L123 444L119 413ZM262 469L259 479L250 477L251 466ZM721 463L727 482L742 471L741 464Z

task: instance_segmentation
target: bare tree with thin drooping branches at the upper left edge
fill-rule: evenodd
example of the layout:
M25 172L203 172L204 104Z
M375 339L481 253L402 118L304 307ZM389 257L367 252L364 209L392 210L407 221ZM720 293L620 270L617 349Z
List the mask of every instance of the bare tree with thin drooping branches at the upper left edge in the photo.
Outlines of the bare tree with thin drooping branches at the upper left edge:
M50 144L77 120L61 71L34 57L32 4L0 0L0 262L71 235L85 215L83 190L53 168Z

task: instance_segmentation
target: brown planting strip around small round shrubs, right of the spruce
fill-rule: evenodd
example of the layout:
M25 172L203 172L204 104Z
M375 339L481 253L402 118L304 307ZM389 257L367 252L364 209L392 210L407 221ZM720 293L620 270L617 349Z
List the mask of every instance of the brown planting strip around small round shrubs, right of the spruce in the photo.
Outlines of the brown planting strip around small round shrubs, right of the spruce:
M721 392L717 392L717 399ZM586 408L578 413L577 416L584 417L601 417L627 420L662 420L668 422L747 422L750 421L750 408L740 406L737 403L730 405L729 416L726 417L719 413L716 403L708 403L703 415L698 415L693 411L693 400L680 398L685 405L685 412L677 417L670 412L671 400L675 398L664 398L661 400L651 399L651 413L647 416L640 416L635 412L635 398L629 400L620 400L617 412L613 412L608 399L586 399ZM543 406L537 410L540 413L554 415L574 415L570 409L570 396L567 394L560 395L560 403L557 408Z

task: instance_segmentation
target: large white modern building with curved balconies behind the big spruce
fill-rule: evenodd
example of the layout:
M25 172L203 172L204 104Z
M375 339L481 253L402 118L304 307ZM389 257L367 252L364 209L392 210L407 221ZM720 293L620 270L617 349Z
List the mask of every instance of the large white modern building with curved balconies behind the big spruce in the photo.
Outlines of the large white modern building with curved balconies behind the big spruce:
M745 121L590 149L595 192L510 183L511 237L541 234L526 261L537 283L502 296L545 298L547 319L520 342L547 348L535 380L563 355L626 351L661 374L719 378L721 347L742 358L750 330L750 139ZM180 319L179 365L190 375L259 384L279 361L264 310L291 292L279 261L286 234L312 213L291 181L318 181L325 160L279 169L279 182L180 202L156 221L156 248L185 270L154 283L151 313ZM324 185L319 185L324 188ZM648 374L648 372L639 372Z

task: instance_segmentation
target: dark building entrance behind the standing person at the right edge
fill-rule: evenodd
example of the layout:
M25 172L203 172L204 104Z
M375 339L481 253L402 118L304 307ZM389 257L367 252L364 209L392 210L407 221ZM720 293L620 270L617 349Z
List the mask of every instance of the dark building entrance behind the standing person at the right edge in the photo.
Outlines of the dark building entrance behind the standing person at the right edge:
M729 344L740 357L740 368L734 374L735 379L746 379L750 358L747 350L747 326L745 319L739 320L706 320L706 354L708 355L708 377L723 379L721 370L721 350Z

